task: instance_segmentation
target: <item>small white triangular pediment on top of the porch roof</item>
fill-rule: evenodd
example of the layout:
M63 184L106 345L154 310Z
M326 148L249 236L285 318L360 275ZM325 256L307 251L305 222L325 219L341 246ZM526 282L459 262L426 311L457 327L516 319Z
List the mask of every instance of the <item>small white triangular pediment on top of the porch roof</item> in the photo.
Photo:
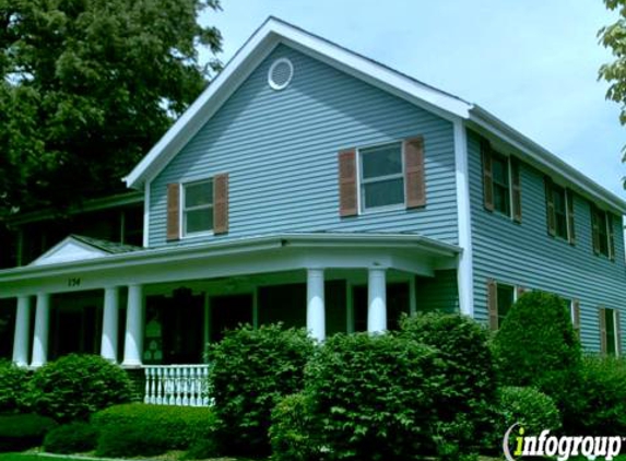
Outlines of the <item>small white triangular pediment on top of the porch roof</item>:
M60 262L84 261L135 249L128 245L114 244L96 238L70 235L55 245L31 265L56 264ZM139 249L139 248L138 248Z

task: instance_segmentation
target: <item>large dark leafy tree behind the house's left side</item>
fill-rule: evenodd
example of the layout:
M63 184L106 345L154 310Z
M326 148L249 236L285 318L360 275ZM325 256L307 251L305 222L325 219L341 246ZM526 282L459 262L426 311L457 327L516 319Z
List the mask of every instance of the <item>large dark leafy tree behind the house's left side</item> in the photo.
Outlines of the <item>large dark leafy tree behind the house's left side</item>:
M0 0L0 217L123 189L220 69L203 10L220 0Z

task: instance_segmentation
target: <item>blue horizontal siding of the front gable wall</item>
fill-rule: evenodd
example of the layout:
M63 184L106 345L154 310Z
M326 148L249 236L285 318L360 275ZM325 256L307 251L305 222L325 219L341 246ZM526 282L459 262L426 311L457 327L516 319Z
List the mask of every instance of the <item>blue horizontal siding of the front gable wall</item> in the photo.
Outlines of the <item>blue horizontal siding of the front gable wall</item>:
M276 92L267 74L280 57L294 76ZM424 137L427 206L340 218L338 151L414 135ZM217 173L229 174L229 232L204 239L414 232L457 243L452 123L284 45L152 181L151 247L166 245L166 185Z

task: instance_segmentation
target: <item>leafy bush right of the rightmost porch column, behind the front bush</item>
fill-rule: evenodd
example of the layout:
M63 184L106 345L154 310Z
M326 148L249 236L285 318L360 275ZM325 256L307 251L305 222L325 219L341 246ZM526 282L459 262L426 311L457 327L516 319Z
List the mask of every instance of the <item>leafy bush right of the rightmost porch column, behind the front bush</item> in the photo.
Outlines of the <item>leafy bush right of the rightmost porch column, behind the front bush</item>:
M437 348L445 365L445 386L435 397L434 409L439 419L439 454L458 459L479 451L480 442L493 433L497 400L488 331L469 317L430 312L404 317L401 332Z

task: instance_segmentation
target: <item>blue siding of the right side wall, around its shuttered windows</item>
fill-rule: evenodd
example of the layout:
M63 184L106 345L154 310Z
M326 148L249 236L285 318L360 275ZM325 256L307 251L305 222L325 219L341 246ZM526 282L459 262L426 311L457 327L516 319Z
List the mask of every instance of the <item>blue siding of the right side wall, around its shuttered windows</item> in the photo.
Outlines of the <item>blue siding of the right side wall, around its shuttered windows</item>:
M474 255L475 317L487 321L487 279L543 289L580 300L582 343L600 348L598 307L621 309L626 302L622 218L614 220L615 261L593 255L589 201L574 194L576 245L547 234L544 175L521 163L522 223L483 206L479 137L470 133L469 167ZM512 152L511 152L512 153ZM624 318L622 315L622 329Z

